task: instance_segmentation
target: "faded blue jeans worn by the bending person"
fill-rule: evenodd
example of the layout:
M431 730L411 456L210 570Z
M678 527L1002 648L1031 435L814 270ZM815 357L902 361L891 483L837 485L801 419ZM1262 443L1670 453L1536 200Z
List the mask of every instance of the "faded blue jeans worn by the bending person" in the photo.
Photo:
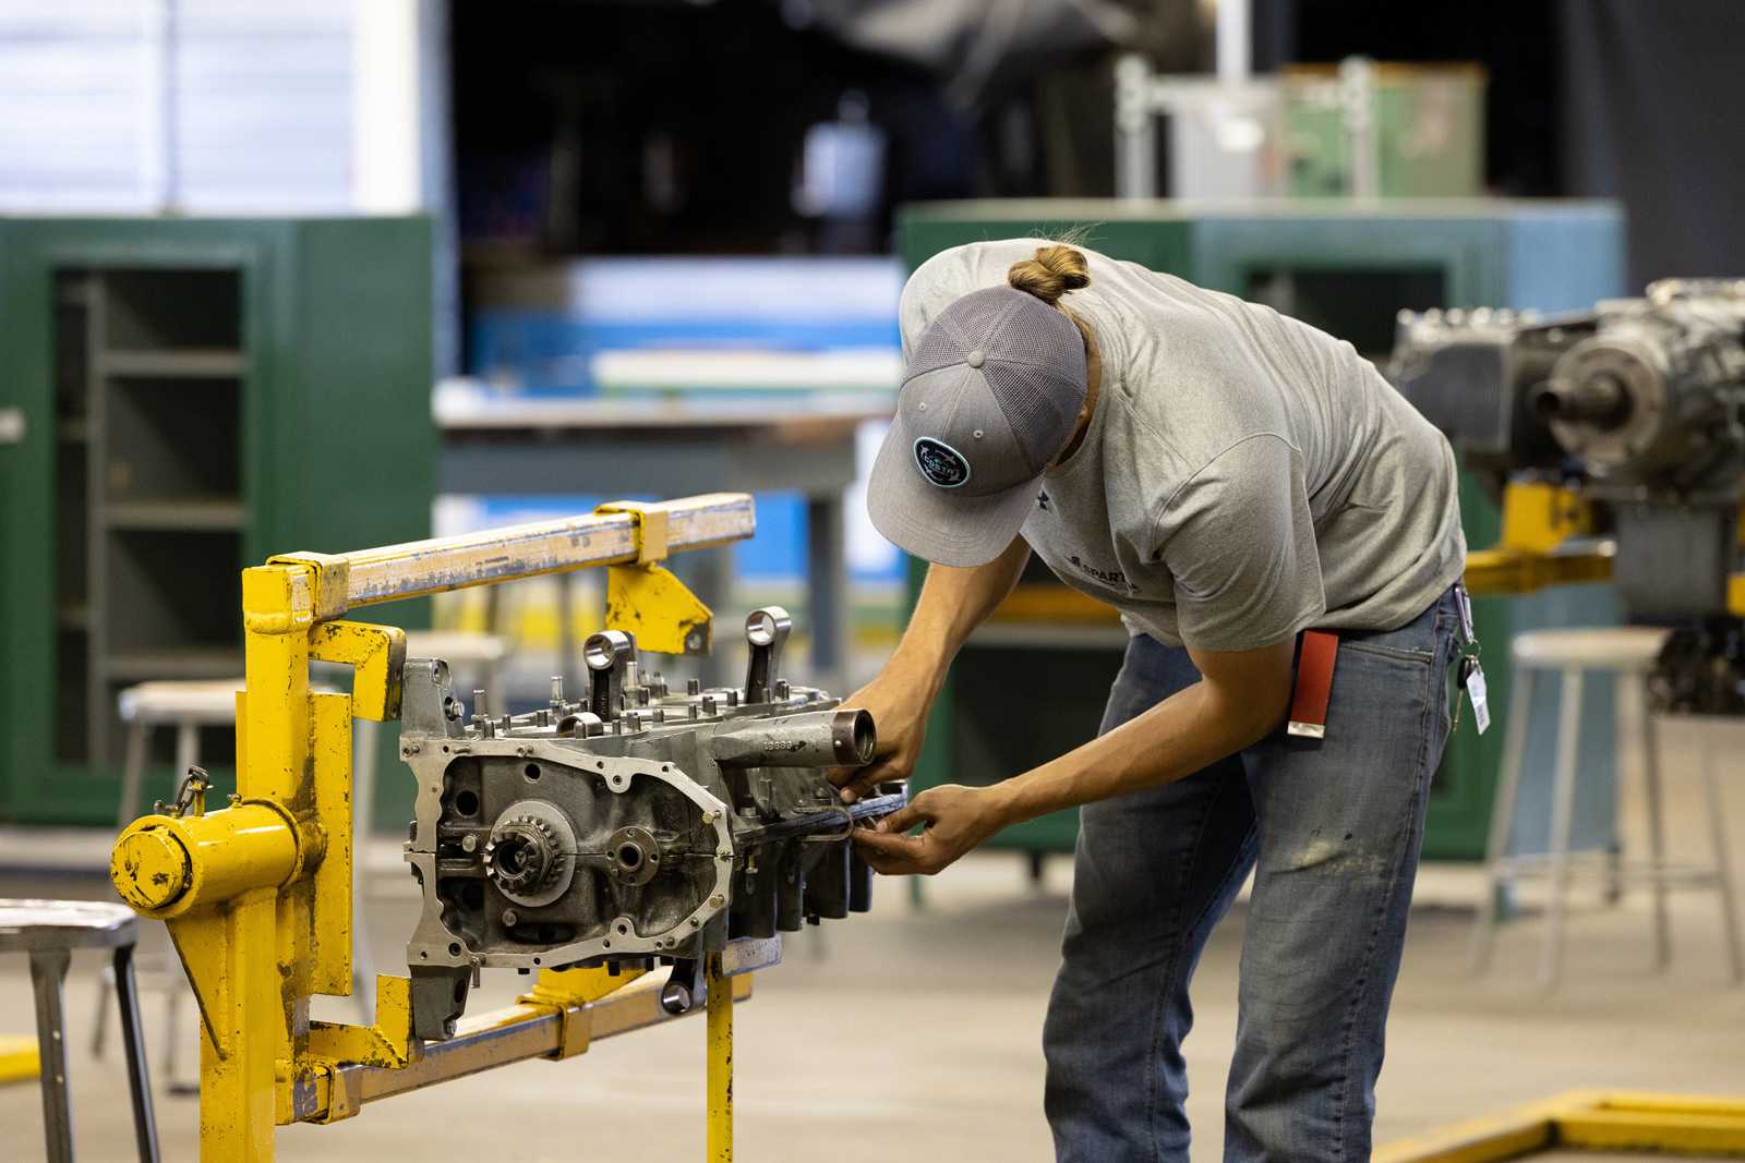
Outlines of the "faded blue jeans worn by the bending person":
M1249 868L1225 1160L1370 1158L1457 624L1450 589L1401 629L1342 633L1323 741L1281 725L1187 779L1082 809L1044 1029L1063 1163L1188 1158L1188 980ZM1187 650L1133 638L1103 731L1197 678Z

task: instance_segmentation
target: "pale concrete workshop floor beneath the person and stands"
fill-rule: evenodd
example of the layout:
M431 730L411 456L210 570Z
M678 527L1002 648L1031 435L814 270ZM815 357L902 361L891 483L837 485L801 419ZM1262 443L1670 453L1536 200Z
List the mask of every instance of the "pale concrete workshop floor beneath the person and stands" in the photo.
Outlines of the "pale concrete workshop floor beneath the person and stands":
M1668 746L1677 750L1679 739ZM1673 851L1707 856L1689 764L1672 758ZM1731 764L1735 851L1745 851L1738 844L1745 757ZM384 856L375 861L370 905L373 949L389 968L415 900L410 879ZM738 1013L740 1158L1049 1160L1038 1029L1068 875L1056 861L1035 891L1016 858L977 856L928 884L925 910L911 910L902 886L879 884L869 917L792 938L787 962L759 978L757 997ZM73 875L51 882L0 875L0 894L9 896L101 888ZM1640 894L1597 908L1597 893L1583 889L1569 975L1553 996L1532 983L1539 936L1532 921L1504 931L1487 978L1468 973L1475 898L1471 870L1431 868L1420 879L1379 1090L1377 1142L1569 1088L1745 1092L1745 990L1726 985L1712 896L1675 898L1675 961L1653 973ZM1195 982L1199 1020L1187 1057L1197 1161L1220 1158L1241 938L1237 908ZM489 975L482 1003L508 997L517 982ZM113 1055L98 1064L84 1051L92 999L94 962L75 966L68 1004L80 1158L126 1160L122 1072ZM157 999L147 1004L155 1041L162 1010ZM342 1015L344 1003L335 1004ZM0 1029L26 1030L30 1013L28 973L9 959L0 964ZM192 1064L194 1030L180 1036L183 1062ZM701 1095L703 1027L686 1020L600 1043L574 1062L529 1062L372 1105L342 1125L286 1128L279 1158L693 1160L701 1156ZM159 1116L164 1158L195 1158L195 1104L161 1093ZM37 1158L38 1119L33 1088L0 1088L0 1156ZM504 1151L510 1144L513 1154Z

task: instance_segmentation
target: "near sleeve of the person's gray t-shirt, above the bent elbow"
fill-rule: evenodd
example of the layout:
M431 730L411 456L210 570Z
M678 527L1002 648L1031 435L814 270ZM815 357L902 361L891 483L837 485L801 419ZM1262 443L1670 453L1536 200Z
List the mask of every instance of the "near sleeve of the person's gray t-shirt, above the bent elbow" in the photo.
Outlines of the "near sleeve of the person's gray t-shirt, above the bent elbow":
M1166 500L1155 532L1188 647L1255 650L1326 612L1302 457L1279 436L1215 457Z

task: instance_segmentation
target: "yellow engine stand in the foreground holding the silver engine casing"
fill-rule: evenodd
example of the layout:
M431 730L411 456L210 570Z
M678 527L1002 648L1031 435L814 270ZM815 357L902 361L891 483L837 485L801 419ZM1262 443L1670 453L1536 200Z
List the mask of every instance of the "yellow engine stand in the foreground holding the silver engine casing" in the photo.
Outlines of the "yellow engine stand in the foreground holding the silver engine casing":
M237 792L143 816L110 875L164 921L201 1011L201 1158L272 1160L274 1126L349 1118L363 1102L667 1020L660 982L606 969L541 973L515 1006L412 1037L410 983L377 978L372 1027L311 1022L312 994L351 994L354 717L400 717L405 631L340 621L380 602L588 565L609 567L614 617L653 650L708 649L710 612L660 561L754 532L750 497L714 493L347 554L295 553L243 572L246 687L237 692ZM309 663L352 666L351 694L309 689ZM708 1158L731 1160L731 1006L778 942L708 964ZM719 987L719 989L717 989Z

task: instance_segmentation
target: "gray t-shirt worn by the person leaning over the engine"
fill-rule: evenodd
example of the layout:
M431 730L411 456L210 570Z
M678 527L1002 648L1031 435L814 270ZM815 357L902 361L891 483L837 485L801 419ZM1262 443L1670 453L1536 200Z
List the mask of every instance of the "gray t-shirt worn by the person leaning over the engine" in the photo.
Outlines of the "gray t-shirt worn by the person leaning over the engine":
M902 291L904 354L1044 239L972 242ZM1466 537L1448 441L1351 343L1269 307L1084 251L1063 305L1103 359L1084 443L1023 535L1133 633L1249 650L1300 629L1396 629L1454 584Z

